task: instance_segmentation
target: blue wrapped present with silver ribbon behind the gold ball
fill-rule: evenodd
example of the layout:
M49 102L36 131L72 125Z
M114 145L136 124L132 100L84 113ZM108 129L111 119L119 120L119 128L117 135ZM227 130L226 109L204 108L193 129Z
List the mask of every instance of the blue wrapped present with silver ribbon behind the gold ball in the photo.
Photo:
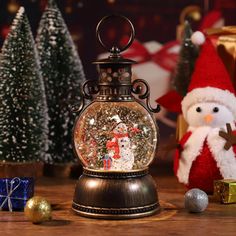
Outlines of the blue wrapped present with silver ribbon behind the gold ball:
M34 195L33 178L1 178L0 210L21 211Z

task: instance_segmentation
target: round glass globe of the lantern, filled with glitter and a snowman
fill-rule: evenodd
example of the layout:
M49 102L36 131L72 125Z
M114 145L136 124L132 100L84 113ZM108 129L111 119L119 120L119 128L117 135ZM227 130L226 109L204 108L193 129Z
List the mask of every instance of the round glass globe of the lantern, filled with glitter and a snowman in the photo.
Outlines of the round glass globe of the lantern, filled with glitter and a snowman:
M130 171L147 167L157 145L156 124L136 101L95 101L74 129L75 152L93 170Z

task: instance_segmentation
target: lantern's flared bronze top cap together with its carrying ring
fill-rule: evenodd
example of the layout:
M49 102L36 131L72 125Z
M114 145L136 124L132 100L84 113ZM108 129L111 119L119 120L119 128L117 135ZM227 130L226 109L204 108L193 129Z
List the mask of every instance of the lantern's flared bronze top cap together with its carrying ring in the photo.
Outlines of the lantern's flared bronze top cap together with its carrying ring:
M117 18L117 17L124 19L126 22L128 22L128 24L130 26L131 34L130 34L129 40L125 46L123 46L121 48L118 46L113 46L113 47L109 48L103 42L103 40L101 38L101 27L104 24L104 22L106 22L107 20L109 20L111 18ZM123 58L120 54L121 52L125 51L127 48L130 47L130 45L133 43L134 37L135 37L134 26L127 17L125 17L123 15L118 15L118 14L112 14L112 15L107 15L107 16L103 17L97 24L96 36L97 36L99 43L103 46L103 48L105 48L108 52L110 52L110 56L105 59L97 60L97 61L93 62L94 64L134 64L134 63L136 63L133 60Z

